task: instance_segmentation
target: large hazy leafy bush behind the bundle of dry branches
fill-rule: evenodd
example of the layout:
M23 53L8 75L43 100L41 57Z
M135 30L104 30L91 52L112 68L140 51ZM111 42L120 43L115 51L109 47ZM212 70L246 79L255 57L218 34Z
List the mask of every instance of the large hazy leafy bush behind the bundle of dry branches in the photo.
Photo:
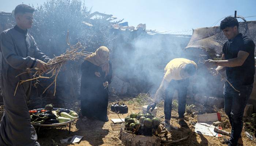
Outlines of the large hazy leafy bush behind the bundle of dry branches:
M34 27L30 33L37 41L39 49L48 56L65 52L68 48L67 31L71 44L80 41L87 51L93 52L99 46L112 48L112 37L109 33L112 24L104 19L89 19L91 9L80 0L50 0L36 10Z

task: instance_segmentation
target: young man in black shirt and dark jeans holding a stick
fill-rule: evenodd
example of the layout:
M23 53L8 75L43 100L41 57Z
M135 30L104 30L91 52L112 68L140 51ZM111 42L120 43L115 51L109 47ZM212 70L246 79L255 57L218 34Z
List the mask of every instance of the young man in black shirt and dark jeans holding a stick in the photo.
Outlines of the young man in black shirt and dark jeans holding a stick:
M255 44L252 39L239 33L238 21L234 17L227 17L222 20L220 27L224 35L229 39L223 46L222 60L209 59L205 61L205 64L218 65L216 69L213 69L216 74L226 69L227 80L237 90L235 91L226 82L223 91L225 112L232 127L228 145L237 146L238 139L241 138L244 108L253 88Z

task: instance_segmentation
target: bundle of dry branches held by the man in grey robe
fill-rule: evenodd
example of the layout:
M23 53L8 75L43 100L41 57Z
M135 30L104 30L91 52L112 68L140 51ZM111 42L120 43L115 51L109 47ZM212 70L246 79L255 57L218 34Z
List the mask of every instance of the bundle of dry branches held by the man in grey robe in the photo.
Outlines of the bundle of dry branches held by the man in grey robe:
M69 45L70 48L67 49L65 53L61 54L60 56L57 56L57 57L54 57L54 58L50 59L46 63L49 67L49 70L50 70L46 74L52 73L52 76L44 77L43 76L44 72L42 70L38 69L38 68L32 68L32 69L28 68L26 72L18 74L16 77L20 76L21 74L25 74L25 73L34 73L34 75L32 76L33 78L28 79L28 80L21 80L21 81L18 82L18 84L16 86L16 89L15 89L15 92L14 92L14 96L16 95L16 91L17 91L19 85L23 84L24 82L36 80L36 84L37 84L39 82L38 81L39 78L49 79L49 78L53 78L53 77L54 77L53 82L44 90L43 93L45 93L45 91L50 86L52 86L53 83L54 83L53 96L55 96L57 77L58 77L58 74L59 74L60 69L63 66L63 64L65 64L67 61L74 61L75 59L78 59L80 57L86 58L87 56L92 54L90 52L84 51L84 48L83 48L83 46L81 45L80 42L76 43L76 45L74 45L74 46L71 46L71 44L69 43L68 35L67 35L67 44ZM81 49L81 48L83 48L83 49L78 52L78 50Z

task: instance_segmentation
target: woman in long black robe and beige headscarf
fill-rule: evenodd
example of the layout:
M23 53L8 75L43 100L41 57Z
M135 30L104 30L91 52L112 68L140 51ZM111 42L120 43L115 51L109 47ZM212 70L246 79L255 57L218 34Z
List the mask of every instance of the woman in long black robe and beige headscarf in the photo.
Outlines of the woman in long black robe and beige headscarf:
M112 78L109 49L99 47L81 66L81 111L87 118L108 121L108 84ZM83 118L82 120L86 120Z

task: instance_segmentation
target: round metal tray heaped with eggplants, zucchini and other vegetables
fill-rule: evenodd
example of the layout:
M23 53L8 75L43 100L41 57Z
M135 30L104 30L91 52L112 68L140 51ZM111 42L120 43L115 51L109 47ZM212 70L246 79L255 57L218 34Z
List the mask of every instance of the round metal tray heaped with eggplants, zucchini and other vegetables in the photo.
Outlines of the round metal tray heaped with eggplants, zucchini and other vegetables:
M45 108L29 111L31 124L35 126L61 126L78 119L78 114L65 108L53 108L48 104Z

